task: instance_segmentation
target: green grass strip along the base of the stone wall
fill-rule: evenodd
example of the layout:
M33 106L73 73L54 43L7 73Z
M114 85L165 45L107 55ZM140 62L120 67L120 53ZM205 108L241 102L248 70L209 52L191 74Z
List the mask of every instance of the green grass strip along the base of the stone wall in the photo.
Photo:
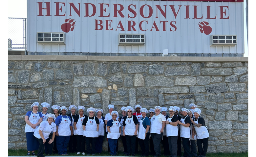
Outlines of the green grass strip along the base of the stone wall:
M26 149L8 149L8 156L26 156L27 155L27 150ZM35 154L37 154L37 150L35 151ZM162 153L163 154L163 153ZM141 153L136 154L135 156L140 156ZM59 154L52 154L48 156L59 156ZM81 154L76 155L76 153L70 153L69 156L84 156ZM96 156L110 156L110 154L107 151L102 151L100 154L96 154ZM117 156L124 156L122 152L117 152ZM153 155L149 155L153 156ZM163 155L161 155L164 157ZM248 157L248 152L243 152L243 153L207 153L207 157ZM179 157L179 156L178 156Z

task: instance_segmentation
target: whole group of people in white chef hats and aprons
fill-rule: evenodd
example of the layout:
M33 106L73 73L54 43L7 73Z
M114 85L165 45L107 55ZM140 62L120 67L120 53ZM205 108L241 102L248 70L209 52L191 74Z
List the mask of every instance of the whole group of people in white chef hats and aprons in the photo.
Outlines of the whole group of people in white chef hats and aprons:
M182 118L179 116L180 107L177 106L156 106L149 110L140 105L135 108L123 106L122 117L119 118L118 112L114 111L114 105L110 104L109 113L104 118L103 110L93 107L87 109L89 116L86 116L84 106L70 105L71 113L66 115L68 109L65 106L53 105L54 114L50 114L47 113L50 104L43 102L41 105L42 112L38 112L39 103L34 102L31 105L32 111L28 111L25 116L27 155L35 156L34 150L37 149L39 157L44 157L44 149L46 154L57 152L59 155L69 155L69 147L70 152L94 156L102 152L106 132L111 156L117 154L120 136L124 147L123 154L126 156L135 156L138 153L138 144L142 151L141 156L148 156L150 143L151 154L158 157L161 154L160 142L165 156L181 156L181 138L184 157L206 156L209 132L200 116L201 110L193 103L190 104L190 109L181 109ZM78 115L75 114L76 110ZM167 116L167 111L170 116Z

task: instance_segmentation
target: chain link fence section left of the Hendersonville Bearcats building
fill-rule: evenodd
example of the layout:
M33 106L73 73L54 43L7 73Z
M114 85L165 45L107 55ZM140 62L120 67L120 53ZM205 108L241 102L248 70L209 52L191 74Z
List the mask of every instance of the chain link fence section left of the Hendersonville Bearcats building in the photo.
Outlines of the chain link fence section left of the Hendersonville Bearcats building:
M27 50L27 18L8 18L8 50Z

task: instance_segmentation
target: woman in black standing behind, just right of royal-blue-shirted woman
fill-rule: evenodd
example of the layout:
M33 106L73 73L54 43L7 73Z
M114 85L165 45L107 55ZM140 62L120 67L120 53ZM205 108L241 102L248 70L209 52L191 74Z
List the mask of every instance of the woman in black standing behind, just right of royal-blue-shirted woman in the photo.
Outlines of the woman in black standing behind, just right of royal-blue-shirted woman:
M71 123L72 123L73 133L74 133L75 132L74 120L76 119L76 117L78 117L78 115L75 114L75 111L77 110L77 107L75 105L70 105L69 110L71 111L71 113L68 114L68 116L71 118ZM69 152L70 153L76 152L76 143L77 143L76 142L76 135L70 136L70 139L69 139Z

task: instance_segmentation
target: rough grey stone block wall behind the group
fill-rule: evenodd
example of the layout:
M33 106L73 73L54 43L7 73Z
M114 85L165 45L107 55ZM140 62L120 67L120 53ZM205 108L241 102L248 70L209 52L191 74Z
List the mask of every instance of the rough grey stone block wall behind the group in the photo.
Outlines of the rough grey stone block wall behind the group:
M8 60L9 149L26 148L24 117L33 102L104 115L110 103L119 113L127 105L195 103L210 131L208 152L248 150L248 62Z

